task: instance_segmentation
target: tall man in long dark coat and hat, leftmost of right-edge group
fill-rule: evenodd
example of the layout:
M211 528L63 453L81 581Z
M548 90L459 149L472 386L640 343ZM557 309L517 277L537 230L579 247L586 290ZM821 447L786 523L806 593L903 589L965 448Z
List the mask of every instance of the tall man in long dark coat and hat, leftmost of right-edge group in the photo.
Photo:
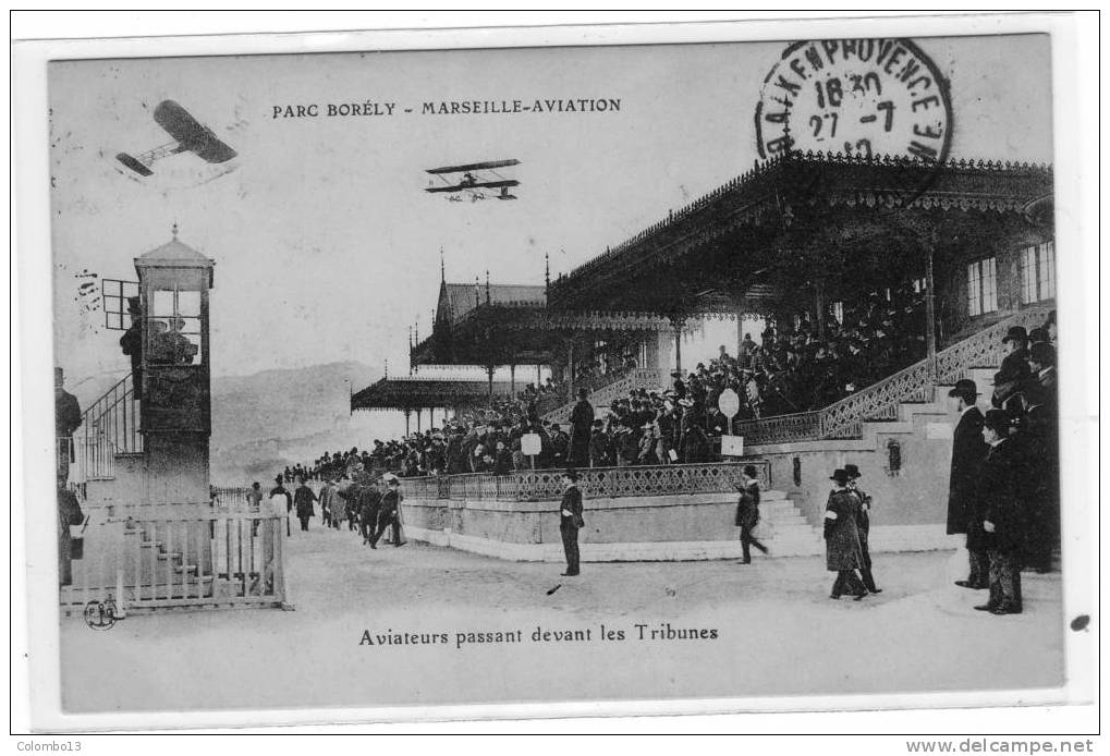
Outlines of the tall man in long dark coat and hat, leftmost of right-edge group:
M956 411L960 413L952 432L952 462L948 475L948 534L966 533L968 550L968 578L956 581L956 585L980 591L987 587L989 562L986 534L976 512L979 470L987 456L982 413L976 404L979 392L975 381L961 379L948 396L955 400Z

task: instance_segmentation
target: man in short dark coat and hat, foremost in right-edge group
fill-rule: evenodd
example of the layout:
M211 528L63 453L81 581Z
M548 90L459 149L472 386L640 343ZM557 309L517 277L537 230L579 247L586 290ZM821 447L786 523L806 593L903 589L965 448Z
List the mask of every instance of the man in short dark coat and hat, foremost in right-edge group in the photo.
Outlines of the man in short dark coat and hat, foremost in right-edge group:
M976 608L991 614L1021 613L1020 553L1025 534L1019 444L1010 439L1010 416L988 410L982 439L990 445L979 473L979 520L990 558L988 602Z

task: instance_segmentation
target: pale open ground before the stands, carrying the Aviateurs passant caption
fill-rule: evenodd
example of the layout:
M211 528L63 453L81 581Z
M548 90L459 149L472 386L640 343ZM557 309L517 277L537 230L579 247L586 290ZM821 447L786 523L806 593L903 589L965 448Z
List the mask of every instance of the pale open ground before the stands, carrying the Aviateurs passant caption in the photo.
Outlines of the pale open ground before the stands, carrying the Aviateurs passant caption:
M750 565L586 563L581 576L561 577L561 565L417 543L372 551L352 533L313 525L307 534L294 531L286 551L294 612L148 614L107 632L63 618L63 710L1062 684L1059 574L1026 573L1025 614L996 617L972 609L986 599L983 592L952 585L963 566L953 552L878 554L875 574L884 592L854 602L828 597L833 573L816 557L756 555ZM697 635L708 637L653 639L653 629L666 635L667 623L676 634L704 629ZM623 631L624 639L602 637L602 625ZM636 625L644 626L645 639ZM533 641L537 629L552 631L552 639ZM588 641L554 639L555 631L584 636L587 629ZM519 642L456 647L458 634L516 631ZM430 645L377 637L404 633L445 637Z

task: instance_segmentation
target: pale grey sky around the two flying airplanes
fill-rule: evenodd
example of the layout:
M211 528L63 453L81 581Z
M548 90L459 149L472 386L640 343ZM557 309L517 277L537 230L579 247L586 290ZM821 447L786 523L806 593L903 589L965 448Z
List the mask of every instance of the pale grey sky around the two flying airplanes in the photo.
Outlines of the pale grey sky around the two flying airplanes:
M951 83L956 158L1051 162L1046 36L915 40ZM171 238L215 260L212 371L407 363L440 283L543 283L751 168L754 111L785 43L84 60L50 64L56 350L123 372L79 286L133 280ZM619 99L617 112L425 115L441 100ZM141 180L115 160L170 141L173 99L235 149ZM394 117L274 107L397 103ZM403 108L414 113L402 114ZM514 158L515 202L448 202L424 169ZM80 379L78 379L80 380Z

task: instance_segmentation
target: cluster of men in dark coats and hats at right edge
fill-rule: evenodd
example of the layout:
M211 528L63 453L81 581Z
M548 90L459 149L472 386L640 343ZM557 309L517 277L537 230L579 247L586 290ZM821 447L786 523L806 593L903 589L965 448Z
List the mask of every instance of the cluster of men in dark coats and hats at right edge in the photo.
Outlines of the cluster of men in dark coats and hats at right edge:
M952 437L948 532L967 534L968 577L988 591L977 609L1020 614L1022 567L1046 571L1059 546L1060 468L1056 319L1015 326L982 413L975 381L949 392L960 412Z

